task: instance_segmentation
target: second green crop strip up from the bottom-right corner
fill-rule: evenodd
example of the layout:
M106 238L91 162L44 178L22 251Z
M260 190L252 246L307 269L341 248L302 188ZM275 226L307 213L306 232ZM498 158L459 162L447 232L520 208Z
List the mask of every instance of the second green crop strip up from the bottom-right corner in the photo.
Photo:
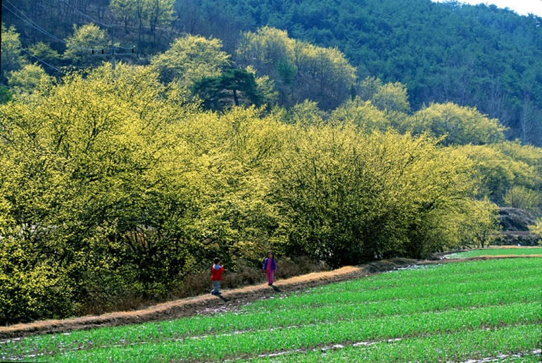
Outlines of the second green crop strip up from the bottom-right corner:
M270 315L270 319L273 316ZM115 362L141 362L134 357L149 357L153 352L172 359L228 359L278 350L308 349L334 342L381 340L403 336L424 336L448 331L474 331L479 327L495 328L517 324L534 324L542 319L540 304L510 304L480 309L446 310L401 314L376 319L338 320L326 323L308 322L305 326L270 328L229 334L213 334L186 339L132 340L118 346L94 346L89 350L57 350L58 362L89 362L111 355ZM115 353L118 352L118 353ZM15 353L15 352L13 352ZM27 352L29 354L30 352ZM51 355L49 355L51 357ZM101 359L98 359L99 361ZM145 361L143 359L143 361Z

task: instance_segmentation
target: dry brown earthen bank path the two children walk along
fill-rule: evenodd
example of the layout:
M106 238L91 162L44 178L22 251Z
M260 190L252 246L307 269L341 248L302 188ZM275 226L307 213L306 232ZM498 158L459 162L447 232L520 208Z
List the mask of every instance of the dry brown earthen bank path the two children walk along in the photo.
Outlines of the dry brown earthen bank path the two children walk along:
M509 256L505 256L510 258ZM450 262L495 259L499 257L475 257L472 259L442 259L435 261L417 261L415 259L390 259L379 262L371 262L360 266L346 266L334 271L309 273L296 276L282 281L277 281L274 288L267 284L252 285L236 290L224 290L221 297L213 295L200 295L182 300L156 304L146 309L131 312L114 312L99 316L82 316L74 319L35 321L30 324L15 324L13 326L0 327L0 339L32 336L34 334L60 333L80 329L91 329L106 326L121 326L127 324L139 324L148 321L163 321L177 319L182 316L197 314L215 314L225 312L236 307L265 299L281 293L314 288L319 285L327 285L340 281L348 281L356 278L371 276L375 273L390 271L406 266L421 264L442 264Z

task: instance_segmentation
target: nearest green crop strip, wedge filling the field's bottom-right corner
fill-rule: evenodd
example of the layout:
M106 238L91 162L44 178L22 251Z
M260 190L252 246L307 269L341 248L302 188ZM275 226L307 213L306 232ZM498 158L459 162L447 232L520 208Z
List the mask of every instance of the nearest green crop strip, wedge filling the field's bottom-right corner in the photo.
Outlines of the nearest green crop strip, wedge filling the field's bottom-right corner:
M495 358L498 362L538 363L534 353L540 340L540 325L508 326L497 330L435 334L423 338L365 342L342 349L291 352L250 362L465 362ZM504 353L504 354L503 354Z

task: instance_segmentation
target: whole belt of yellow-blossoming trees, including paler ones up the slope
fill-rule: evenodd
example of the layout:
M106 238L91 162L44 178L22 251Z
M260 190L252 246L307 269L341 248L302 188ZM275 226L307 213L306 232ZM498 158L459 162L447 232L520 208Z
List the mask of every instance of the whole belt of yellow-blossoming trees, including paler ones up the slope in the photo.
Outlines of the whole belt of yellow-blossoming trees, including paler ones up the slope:
M148 66L62 78L11 49L3 323L163 299L217 255L232 270L270 248L334 267L422 258L489 244L498 205L541 212L541 149L495 118L412 110L405 84L359 81L338 49L281 30L241 39L241 68L218 39L183 35Z

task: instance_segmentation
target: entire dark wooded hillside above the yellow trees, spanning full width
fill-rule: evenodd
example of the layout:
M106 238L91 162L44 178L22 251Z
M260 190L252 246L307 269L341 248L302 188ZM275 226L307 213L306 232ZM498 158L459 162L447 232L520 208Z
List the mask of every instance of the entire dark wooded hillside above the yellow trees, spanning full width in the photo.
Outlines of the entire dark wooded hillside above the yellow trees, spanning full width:
M62 55L74 25L95 23L108 31L106 39L114 33L115 42L135 44L144 64L186 33L221 39L234 54L241 32L268 25L294 39L337 47L357 68L358 80L370 75L402 82L412 111L431 102L476 106L508 126L510 139L542 144L542 19L496 6L431 0L18 0L3 2L2 22L15 25L25 51L56 68L74 64ZM56 57L37 47L40 41ZM108 42L101 47L108 49ZM4 56L2 62L8 70Z

